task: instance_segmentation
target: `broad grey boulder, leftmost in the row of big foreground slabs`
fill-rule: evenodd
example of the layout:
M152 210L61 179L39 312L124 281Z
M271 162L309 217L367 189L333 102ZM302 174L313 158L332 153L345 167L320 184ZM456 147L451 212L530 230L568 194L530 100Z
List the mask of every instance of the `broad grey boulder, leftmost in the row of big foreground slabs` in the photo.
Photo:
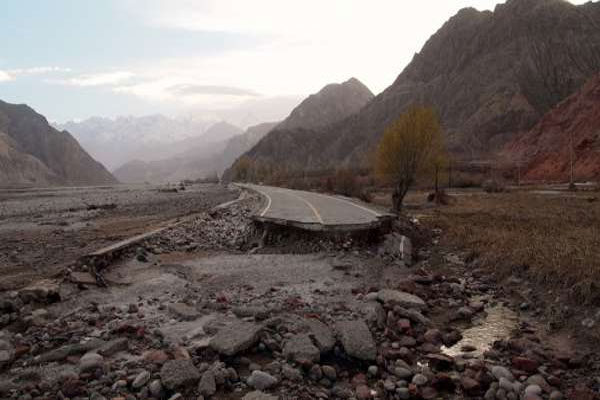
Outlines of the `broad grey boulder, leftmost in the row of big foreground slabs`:
M254 346L258 342L261 330L260 325L237 321L218 331L209 346L217 353L234 356Z

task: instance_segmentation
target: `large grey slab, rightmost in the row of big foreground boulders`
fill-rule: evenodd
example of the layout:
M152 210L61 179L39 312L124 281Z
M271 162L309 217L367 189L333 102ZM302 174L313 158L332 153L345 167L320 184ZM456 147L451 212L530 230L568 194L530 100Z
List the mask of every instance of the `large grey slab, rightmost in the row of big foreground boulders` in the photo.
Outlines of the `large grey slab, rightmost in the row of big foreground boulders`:
M335 324L335 328L349 356L364 361L375 360L377 346L364 321L339 321Z

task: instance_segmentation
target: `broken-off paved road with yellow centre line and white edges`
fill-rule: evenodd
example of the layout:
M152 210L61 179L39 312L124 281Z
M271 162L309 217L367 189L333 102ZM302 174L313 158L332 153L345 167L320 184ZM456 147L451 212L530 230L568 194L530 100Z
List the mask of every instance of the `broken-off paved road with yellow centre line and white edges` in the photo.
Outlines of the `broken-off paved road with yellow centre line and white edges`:
M382 217L389 215L337 196L271 186L246 186L267 199L266 206L257 215L265 220L343 228L377 225Z

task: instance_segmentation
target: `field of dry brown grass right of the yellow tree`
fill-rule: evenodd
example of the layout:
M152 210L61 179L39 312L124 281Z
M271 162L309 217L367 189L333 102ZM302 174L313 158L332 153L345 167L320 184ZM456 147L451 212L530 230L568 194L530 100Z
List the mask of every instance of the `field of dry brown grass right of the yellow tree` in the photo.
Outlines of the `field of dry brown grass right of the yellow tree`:
M523 271L576 301L599 304L600 199L594 196L470 193L427 210L424 222L443 229L445 244L472 251L494 272Z

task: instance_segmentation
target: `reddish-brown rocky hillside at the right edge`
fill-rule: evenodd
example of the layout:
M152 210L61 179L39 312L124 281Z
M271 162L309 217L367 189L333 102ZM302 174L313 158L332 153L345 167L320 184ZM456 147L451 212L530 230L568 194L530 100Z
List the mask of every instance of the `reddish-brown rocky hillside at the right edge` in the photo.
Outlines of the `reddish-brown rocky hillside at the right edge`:
M566 181L571 138L574 176L600 178L600 74L550 110L533 129L506 147L508 157L525 165L524 179Z

